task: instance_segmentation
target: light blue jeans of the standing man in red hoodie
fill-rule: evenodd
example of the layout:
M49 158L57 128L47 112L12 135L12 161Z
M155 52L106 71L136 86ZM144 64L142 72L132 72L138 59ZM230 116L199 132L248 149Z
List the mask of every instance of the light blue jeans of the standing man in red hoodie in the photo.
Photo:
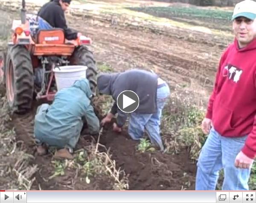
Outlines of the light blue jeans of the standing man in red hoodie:
M248 190L250 169L235 166L236 155L244 146L247 136L224 137L213 128L198 158L196 190L215 190L218 172L224 169L222 190Z

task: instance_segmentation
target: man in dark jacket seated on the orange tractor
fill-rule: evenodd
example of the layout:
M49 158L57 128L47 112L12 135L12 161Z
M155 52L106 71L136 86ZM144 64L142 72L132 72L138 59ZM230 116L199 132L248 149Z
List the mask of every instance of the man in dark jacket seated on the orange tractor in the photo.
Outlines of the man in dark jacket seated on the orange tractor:
M77 39L81 36L81 33L73 32L67 27L64 12L70 6L70 2L71 0L51 0L50 2L44 4L44 6L42 6L38 12L38 17L41 17L46 21L47 24L49 23L50 25L44 25L44 28L61 28L64 30L65 38L68 40Z

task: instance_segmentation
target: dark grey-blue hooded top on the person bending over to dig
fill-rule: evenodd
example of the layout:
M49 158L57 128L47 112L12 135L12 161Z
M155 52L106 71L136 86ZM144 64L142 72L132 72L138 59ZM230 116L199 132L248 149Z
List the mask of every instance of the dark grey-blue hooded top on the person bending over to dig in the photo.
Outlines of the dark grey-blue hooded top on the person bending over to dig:
M136 113L157 112L157 78L158 76L146 70L127 70L123 73L102 74L97 79L99 92L108 94L115 100L111 113L118 113L117 125L122 127L125 124L127 113L117 107L117 97L125 90L137 93L140 104Z

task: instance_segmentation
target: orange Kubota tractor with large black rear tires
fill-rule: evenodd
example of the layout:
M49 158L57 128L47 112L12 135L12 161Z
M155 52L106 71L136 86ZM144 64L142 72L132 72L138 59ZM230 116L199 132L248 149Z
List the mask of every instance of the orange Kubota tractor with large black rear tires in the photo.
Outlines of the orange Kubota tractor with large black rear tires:
M57 87L53 69L56 66L87 66L86 77L92 92L96 92L96 63L86 46L91 44L90 38L81 36L70 41L59 28L39 30L36 37L32 37L25 0L22 0L21 20L13 21L12 31L8 51L0 56L0 77L6 86L9 106L15 113L26 113L34 98L54 99Z

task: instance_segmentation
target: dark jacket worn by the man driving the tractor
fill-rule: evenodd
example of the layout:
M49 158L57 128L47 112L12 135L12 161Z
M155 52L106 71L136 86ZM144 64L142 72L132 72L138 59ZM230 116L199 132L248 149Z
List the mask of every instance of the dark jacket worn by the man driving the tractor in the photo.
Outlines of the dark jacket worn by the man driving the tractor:
M70 28L67 28L64 11L59 4L59 0L53 0L44 4L38 12L38 16L46 20L52 27L62 28L66 39L71 40L77 38L77 32L73 32Z

